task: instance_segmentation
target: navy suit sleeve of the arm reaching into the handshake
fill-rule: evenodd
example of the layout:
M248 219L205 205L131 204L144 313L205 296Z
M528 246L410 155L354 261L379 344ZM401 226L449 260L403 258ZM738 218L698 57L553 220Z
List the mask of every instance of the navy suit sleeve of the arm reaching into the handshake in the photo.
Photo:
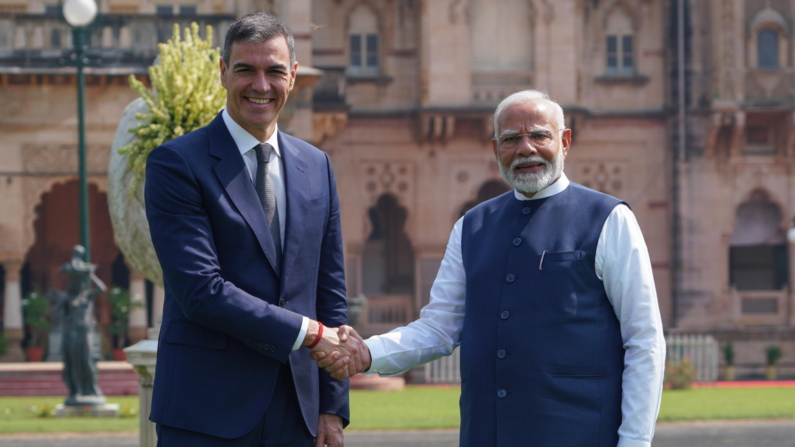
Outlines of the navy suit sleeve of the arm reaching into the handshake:
M221 276L201 185L180 152L164 145L146 164L146 214L163 280L185 317L286 362L302 316L273 306Z

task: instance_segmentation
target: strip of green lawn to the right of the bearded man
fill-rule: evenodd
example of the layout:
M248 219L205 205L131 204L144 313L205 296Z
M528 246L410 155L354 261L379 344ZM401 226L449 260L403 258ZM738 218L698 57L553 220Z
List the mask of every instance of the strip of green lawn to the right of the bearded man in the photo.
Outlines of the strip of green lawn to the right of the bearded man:
M660 421L795 418L795 388L665 390Z

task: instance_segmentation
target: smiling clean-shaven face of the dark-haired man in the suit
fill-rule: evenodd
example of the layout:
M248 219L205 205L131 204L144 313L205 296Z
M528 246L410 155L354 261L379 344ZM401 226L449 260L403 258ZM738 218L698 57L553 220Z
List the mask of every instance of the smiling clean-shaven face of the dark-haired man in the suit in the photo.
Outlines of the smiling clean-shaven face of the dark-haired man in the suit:
M221 59L221 85L226 89L229 116L255 138L266 141L295 85L297 69L297 62L290 64L283 36L233 43L229 65Z

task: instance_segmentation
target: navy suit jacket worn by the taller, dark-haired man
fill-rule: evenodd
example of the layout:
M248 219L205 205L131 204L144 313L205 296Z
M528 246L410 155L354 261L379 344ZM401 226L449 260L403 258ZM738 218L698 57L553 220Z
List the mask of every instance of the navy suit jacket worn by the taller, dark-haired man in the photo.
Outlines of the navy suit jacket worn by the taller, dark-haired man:
M347 425L347 381L319 369L306 348L292 351L302 316L329 327L347 322L334 173L325 153L278 138L287 196L281 265L220 114L149 155L146 213L165 287L156 423L242 436L262 418L279 364L289 360L309 431L316 435L320 413Z

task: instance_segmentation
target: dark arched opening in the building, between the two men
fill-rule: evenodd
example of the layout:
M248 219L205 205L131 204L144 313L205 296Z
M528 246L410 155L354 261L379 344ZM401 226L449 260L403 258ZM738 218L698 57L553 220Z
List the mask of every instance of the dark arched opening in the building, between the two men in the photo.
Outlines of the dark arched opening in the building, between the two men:
M414 249L405 231L408 210L386 193L367 214L371 230L362 250L362 292L413 295Z

